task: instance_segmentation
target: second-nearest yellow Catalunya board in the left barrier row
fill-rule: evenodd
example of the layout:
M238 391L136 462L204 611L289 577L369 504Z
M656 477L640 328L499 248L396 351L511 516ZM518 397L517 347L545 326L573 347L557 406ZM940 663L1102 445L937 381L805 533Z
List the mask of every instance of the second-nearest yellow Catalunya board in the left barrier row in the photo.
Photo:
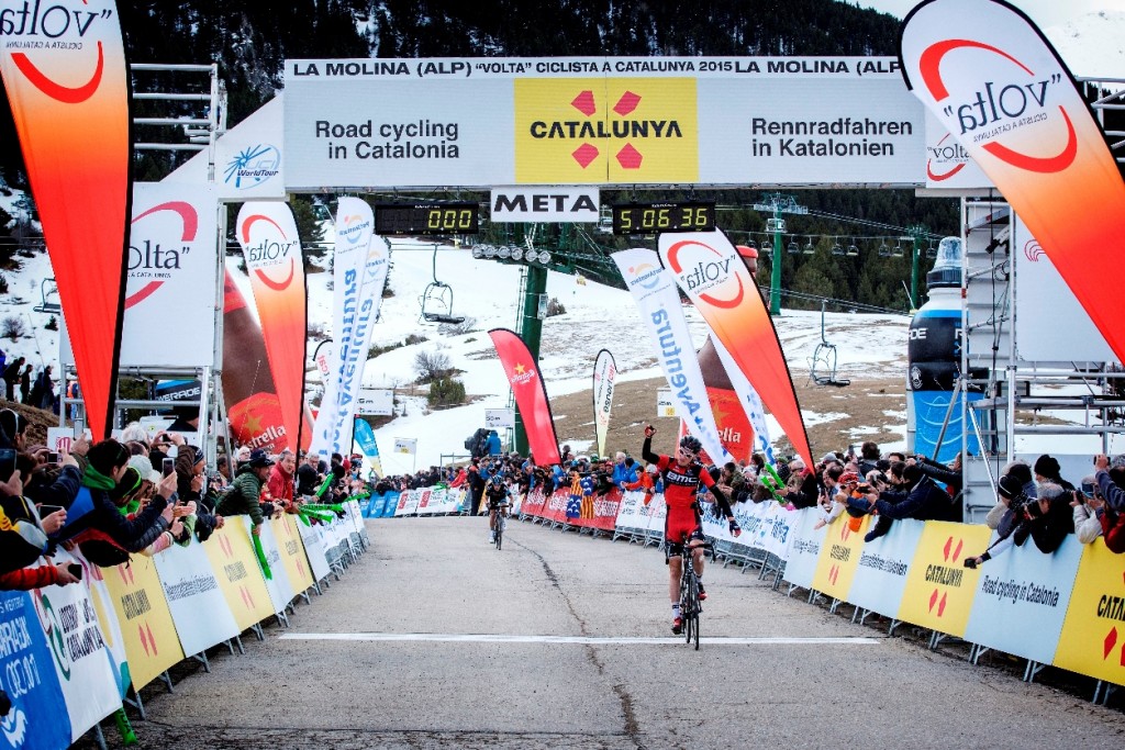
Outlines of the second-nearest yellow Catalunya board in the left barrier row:
M253 543L242 524L227 521L215 530L204 550L240 631L273 614Z

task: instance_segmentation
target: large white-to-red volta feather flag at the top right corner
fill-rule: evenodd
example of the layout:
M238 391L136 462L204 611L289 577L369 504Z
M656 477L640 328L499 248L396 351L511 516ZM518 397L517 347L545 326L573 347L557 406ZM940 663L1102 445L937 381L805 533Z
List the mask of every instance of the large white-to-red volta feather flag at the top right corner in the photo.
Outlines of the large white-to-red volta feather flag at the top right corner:
M1125 360L1120 296L1105 278L1125 251L1125 182L1059 54L1006 2L929 0L903 22L901 58L907 85L996 183Z

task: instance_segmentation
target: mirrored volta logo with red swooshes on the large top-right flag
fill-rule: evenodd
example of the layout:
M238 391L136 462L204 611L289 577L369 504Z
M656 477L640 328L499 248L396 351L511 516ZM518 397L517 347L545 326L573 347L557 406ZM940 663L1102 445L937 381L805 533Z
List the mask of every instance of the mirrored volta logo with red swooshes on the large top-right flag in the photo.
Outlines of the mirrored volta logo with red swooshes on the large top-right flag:
M1016 65L1029 80L986 81L982 88L966 94L961 103L946 105L942 112L956 121L961 136L972 138L972 142L981 144L981 148L986 152L1017 169L1051 173L1070 166L1078 155L1078 134L1066 109L1061 105L1059 112L1065 126L1066 142L1056 153L1026 154L1000 143L1005 136L1023 127L1051 121L1047 108L1048 93L1062 83L1061 73L1036 78L1027 65L998 47L970 39L946 39L927 47L918 62L922 82L934 100L940 103L950 98L948 87L942 78L942 61L950 53L965 49L998 55Z

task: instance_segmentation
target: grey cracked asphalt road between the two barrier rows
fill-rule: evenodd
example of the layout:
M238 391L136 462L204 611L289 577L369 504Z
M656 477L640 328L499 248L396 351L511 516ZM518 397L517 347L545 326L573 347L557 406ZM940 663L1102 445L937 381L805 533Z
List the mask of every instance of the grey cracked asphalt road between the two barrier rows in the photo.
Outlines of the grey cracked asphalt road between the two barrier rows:
M160 748L1115 748L1119 696L888 638L710 566L699 651L655 548L482 518L369 521L372 545L288 629L145 688ZM988 661L986 658L983 661ZM1079 684L1081 686L1081 684ZM110 744L115 730L106 730Z

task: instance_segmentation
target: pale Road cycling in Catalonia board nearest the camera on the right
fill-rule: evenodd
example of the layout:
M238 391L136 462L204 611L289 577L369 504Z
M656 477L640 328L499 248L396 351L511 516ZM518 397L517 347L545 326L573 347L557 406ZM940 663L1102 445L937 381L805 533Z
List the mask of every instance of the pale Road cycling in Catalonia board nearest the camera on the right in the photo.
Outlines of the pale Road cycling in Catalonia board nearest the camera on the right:
M996 534L990 542L994 541ZM986 562L964 639L1032 661L1053 662L1081 560L1081 542L1068 534L1053 554L1043 554L1028 539Z

